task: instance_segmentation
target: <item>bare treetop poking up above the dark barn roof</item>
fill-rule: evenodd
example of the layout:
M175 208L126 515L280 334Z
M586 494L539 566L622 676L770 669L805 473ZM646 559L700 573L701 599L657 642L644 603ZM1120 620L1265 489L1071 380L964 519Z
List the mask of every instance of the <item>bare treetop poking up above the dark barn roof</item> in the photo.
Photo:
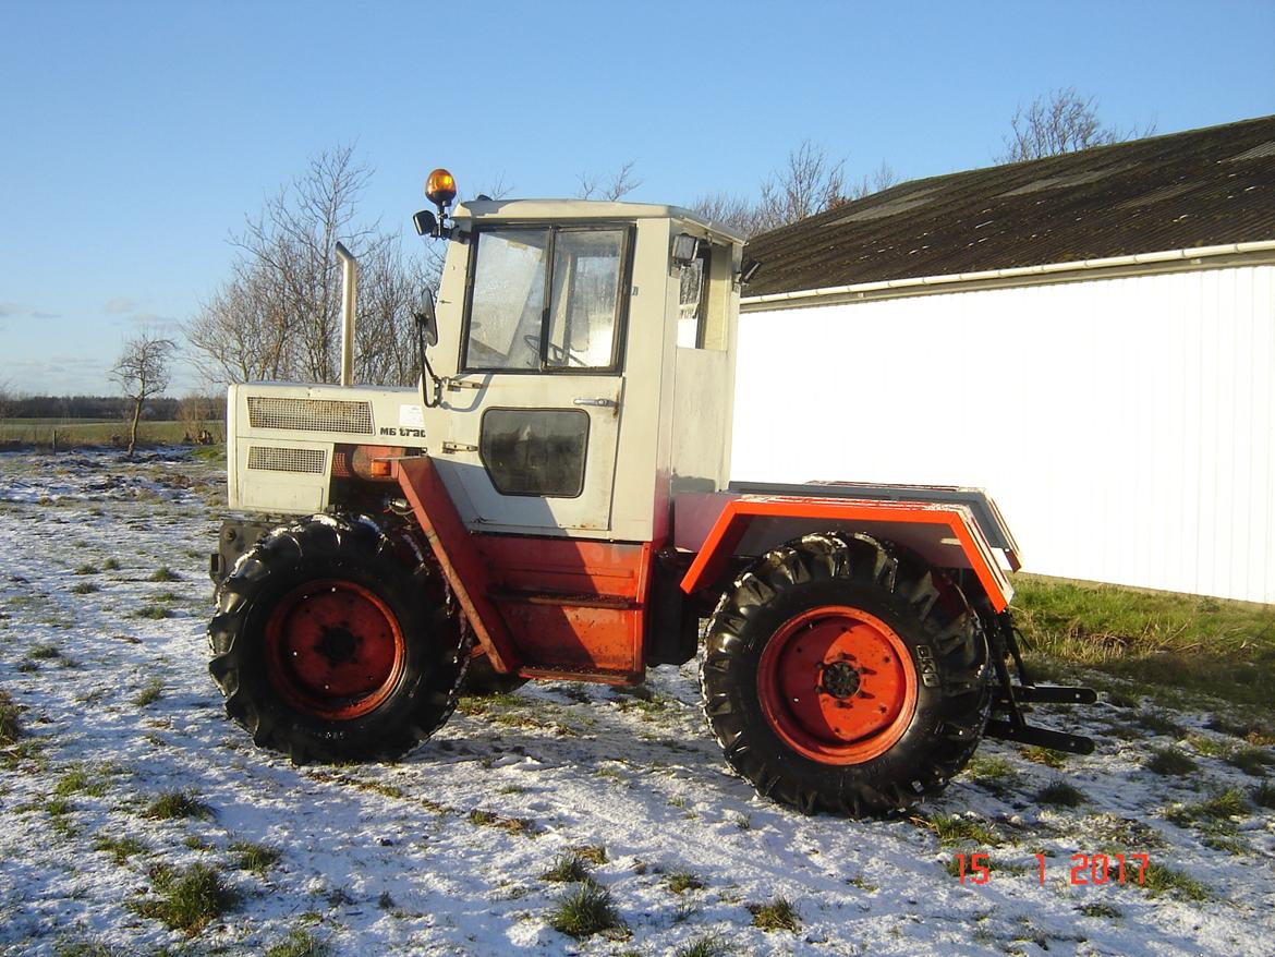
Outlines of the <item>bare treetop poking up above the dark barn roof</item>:
M1096 97L1085 97L1075 87L1063 87L1038 96L1026 108L1019 106L1010 120L1005 152L996 158L1005 163L1040 160L1126 139L1141 139L1154 133L1154 122L1127 130L1104 125L1098 117Z

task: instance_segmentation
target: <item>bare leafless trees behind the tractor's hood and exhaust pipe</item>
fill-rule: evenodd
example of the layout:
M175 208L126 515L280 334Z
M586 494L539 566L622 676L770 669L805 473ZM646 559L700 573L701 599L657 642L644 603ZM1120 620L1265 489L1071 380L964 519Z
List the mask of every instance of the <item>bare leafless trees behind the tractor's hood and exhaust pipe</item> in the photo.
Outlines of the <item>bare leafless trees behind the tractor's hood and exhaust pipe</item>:
M229 382L335 379L339 239L362 267L356 375L377 384L411 382L405 376L414 362L391 352L411 341L404 338L411 309L431 277L405 269L397 235L358 222L357 200L370 175L352 147L320 153L249 219L233 239L238 256L231 278L186 328L205 375ZM440 267L433 263L436 274Z

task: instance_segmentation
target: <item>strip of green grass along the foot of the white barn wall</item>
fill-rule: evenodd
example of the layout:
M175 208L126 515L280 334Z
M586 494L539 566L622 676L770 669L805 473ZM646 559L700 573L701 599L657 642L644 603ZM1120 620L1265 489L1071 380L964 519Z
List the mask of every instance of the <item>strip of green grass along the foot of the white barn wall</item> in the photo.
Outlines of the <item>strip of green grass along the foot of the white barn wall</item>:
M1024 648L1117 678L1267 706L1270 609L1193 595L1016 575Z

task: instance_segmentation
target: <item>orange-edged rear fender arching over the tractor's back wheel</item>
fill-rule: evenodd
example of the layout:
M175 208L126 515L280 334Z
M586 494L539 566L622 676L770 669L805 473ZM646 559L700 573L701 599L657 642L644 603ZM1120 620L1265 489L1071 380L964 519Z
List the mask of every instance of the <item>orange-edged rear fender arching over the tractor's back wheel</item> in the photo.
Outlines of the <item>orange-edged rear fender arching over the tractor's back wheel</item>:
M968 569L996 611L1014 598L1014 586L969 505L720 493L694 498L700 500L686 501L686 512L701 526L706 514L720 510L682 578L688 595L720 587L738 555L760 556L803 535L839 531L895 542L937 568ZM682 512L678 496L674 522Z

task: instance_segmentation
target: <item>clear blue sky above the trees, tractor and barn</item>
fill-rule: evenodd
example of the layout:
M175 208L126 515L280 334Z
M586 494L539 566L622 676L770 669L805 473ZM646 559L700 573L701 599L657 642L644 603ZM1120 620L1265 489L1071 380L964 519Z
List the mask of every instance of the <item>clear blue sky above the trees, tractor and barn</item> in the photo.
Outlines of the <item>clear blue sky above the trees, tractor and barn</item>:
M1072 85L1160 133L1275 112L1275 0L1176 3L20 3L0 31L0 384L113 390L228 237L309 157L357 144L361 213L462 195L751 195L803 139L903 179L987 166L1015 107ZM182 370L172 392L198 384Z

